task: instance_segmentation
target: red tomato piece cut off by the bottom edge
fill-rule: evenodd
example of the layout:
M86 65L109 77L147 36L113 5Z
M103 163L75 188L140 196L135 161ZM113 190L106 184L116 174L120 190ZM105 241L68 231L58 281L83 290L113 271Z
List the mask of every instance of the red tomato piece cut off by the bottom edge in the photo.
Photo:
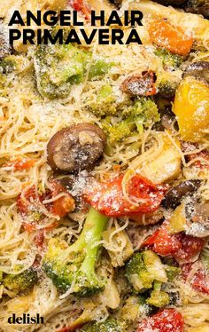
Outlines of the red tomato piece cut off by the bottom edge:
M143 320L137 332L183 332L182 314L175 309L164 309L152 317Z

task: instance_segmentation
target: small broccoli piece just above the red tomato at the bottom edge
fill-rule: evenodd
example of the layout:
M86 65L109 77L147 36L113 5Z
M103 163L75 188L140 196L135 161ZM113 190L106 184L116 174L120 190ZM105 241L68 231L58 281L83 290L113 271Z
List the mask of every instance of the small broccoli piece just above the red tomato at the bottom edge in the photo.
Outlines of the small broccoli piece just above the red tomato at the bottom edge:
M151 296L146 300L147 304L154 305L158 308L166 306L170 302L170 297L168 294L161 290L162 283L159 281L154 281L154 289L151 291Z

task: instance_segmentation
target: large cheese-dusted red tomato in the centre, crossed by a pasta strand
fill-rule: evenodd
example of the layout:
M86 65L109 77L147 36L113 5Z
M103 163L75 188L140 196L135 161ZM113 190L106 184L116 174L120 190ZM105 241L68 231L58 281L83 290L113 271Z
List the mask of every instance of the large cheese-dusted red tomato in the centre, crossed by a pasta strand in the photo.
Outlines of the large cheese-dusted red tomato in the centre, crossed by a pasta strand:
M135 175L127 186L128 201L122 189L124 174L104 182L93 182L85 189L84 199L93 208L108 217L121 217L135 213L150 213L159 208L167 186L154 185L147 178Z

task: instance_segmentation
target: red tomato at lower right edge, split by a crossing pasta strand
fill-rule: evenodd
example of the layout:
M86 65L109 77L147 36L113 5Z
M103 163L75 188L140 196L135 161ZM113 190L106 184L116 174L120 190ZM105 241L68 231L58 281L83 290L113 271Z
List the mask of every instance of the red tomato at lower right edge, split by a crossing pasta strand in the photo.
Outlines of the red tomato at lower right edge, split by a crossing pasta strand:
M185 264L182 266L182 278L186 281L187 277L192 270L192 264ZM194 274L190 280L190 285L197 292L205 293L209 295L209 281L207 280L205 269L199 268L197 273Z

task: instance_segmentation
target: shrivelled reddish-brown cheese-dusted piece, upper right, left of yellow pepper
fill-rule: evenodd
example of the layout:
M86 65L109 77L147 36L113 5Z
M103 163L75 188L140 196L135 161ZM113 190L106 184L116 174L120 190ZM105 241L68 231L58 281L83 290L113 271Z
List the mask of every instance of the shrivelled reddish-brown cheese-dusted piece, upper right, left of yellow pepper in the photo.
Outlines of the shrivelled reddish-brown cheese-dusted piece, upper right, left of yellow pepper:
M155 74L151 70L145 71L142 75L129 76L120 85L120 90L131 96L151 96L156 93L155 81Z

